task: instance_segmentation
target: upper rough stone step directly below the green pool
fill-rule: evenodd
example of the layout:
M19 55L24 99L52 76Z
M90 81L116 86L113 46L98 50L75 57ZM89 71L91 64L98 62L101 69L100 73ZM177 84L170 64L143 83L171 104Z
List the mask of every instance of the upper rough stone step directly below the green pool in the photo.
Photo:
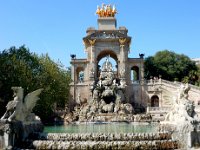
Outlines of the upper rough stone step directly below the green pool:
M36 139L56 141L142 141L169 140L170 133L48 133Z

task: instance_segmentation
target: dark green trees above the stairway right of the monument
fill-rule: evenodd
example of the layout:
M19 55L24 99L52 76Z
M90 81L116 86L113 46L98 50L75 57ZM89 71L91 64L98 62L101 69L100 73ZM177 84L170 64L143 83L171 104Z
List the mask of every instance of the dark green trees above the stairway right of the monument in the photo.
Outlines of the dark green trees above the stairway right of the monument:
M169 81L184 81L195 84L198 80L198 68L195 63L183 54L176 54L172 51L159 51L155 56L145 59L145 76L161 75Z

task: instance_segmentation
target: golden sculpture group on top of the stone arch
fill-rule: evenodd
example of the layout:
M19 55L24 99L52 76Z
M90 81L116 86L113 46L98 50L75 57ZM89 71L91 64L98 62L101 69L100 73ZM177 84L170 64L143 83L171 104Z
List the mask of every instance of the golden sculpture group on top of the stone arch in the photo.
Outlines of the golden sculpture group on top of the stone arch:
M102 6L97 6L96 14L99 17L114 17L117 13L117 10L115 8L115 5L105 5L102 4Z

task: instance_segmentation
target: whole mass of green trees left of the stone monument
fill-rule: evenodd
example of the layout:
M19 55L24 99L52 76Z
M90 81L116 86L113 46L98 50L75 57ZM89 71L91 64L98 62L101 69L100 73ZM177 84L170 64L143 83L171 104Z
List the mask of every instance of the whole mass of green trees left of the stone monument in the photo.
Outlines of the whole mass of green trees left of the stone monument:
M34 112L48 120L53 115L56 103L64 108L69 94L69 73L61 63L55 63L48 55L37 56L25 46L11 47L0 53L0 99L6 103L13 99L12 86L21 86L25 95L38 88L43 88ZM0 115L5 111L2 107Z

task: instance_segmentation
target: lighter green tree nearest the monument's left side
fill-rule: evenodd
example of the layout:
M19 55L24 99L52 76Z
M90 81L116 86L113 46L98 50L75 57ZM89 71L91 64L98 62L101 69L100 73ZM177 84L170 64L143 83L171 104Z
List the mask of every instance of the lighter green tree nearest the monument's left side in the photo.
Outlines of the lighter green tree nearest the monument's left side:
M55 105L59 108L65 108L69 97L70 74L61 63L55 63L47 54L38 57L38 61L42 67L40 84L44 90L34 110L40 114L43 120L49 120L48 116L52 118L54 115ZM44 109L45 111L43 111Z

